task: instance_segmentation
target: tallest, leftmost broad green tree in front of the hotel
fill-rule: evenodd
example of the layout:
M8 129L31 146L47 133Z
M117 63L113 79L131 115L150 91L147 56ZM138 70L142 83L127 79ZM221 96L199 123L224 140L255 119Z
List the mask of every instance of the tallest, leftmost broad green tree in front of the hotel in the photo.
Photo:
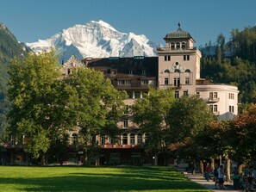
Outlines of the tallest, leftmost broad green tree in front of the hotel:
M55 53L28 54L9 67L9 134L25 135L25 151L34 158L45 154L54 135L63 133L64 100Z

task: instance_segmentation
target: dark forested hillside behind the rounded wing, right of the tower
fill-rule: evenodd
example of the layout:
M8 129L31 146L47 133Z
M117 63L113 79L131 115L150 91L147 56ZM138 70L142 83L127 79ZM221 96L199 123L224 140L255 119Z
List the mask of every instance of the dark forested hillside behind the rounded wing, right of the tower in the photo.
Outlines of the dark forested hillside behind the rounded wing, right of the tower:
M237 85L239 102L256 102L256 27L233 29L225 43L223 34L216 38L215 55L204 54L201 77L215 83ZM209 46L206 47L209 50Z

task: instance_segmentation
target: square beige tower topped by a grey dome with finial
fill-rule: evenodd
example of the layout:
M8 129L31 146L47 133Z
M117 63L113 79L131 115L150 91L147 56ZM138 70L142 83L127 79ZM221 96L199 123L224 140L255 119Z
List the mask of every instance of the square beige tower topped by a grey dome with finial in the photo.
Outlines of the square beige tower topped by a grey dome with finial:
M165 35L165 47L158 49L159 88L172 85L175 96L196 94L196 79L200 78L201 52L192 36L181 29Z

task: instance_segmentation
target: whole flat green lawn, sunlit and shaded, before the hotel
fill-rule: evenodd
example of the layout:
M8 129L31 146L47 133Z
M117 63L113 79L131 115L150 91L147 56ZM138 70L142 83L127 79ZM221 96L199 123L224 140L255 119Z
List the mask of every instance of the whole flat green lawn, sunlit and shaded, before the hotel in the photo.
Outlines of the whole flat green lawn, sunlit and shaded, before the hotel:
M0 191L204 191L170 167L0 166Z

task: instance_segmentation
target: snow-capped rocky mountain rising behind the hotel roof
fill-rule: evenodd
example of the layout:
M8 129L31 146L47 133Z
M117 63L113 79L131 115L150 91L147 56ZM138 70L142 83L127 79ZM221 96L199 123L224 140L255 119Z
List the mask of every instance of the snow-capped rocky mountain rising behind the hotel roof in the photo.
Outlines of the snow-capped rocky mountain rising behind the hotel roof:
M61 55L59 60L65 61L72 54L75 54L78 59L150 57L157 54L156 44L148 40L144 34L121 33L103 21L75 25L72 28L63 29L47 40L37 40L34 43L26 43L26 45L35 53L55 47L57 53Z

